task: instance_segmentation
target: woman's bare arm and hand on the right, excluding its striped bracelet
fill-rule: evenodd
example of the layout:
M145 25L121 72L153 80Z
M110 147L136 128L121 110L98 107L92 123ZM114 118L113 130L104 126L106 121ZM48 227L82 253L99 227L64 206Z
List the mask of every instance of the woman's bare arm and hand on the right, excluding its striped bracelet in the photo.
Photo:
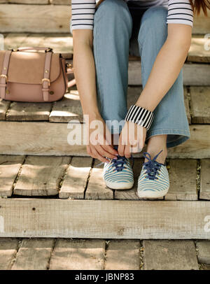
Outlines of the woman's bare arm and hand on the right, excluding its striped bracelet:
M192 27L187 24L168 24L168 36L153 64L153 69L141 92L136 105L154 111L165 94L174 84L188 55ZM134 127L134 131L129 131ZM130 157L131 152L139 152L144 147L146 128L126 123L120 134L118 152ZM130 133L132 135L130 136ZM127 141L123 145L123 141Z

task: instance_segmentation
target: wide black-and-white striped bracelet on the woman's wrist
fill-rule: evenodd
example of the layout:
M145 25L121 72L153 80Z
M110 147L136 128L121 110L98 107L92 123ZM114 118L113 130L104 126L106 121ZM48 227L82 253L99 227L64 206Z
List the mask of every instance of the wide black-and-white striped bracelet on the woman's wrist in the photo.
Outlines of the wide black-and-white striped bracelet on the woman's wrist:
M145 127L146 130L148 130L151 127L153 118L154 114L152 111L141 108L141 106L132 105L127 112L125 120L137 123L137 125L141 125L142 127Z

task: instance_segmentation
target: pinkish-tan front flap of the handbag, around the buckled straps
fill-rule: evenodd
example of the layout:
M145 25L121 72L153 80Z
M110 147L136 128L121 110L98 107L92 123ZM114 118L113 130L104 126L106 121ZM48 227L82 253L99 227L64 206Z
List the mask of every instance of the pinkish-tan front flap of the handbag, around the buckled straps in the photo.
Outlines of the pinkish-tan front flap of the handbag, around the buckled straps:
M5 50L0 51L0 73L3 69ZM22 84L42 84L45 67L45 52L12 52L8 66L8 82ZM59 53L52 53L50 82L60 74Z

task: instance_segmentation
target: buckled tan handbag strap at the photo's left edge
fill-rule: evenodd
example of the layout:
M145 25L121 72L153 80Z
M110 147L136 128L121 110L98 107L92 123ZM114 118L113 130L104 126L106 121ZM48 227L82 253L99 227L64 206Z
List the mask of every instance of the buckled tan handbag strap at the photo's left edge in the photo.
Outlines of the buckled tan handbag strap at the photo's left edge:
M1 99L5 99L6 97L8 66L10 63L11 53L12 53L12 50L6 50L4 59L3 59L3 66L2 66L2 71L0 75L0 97Z

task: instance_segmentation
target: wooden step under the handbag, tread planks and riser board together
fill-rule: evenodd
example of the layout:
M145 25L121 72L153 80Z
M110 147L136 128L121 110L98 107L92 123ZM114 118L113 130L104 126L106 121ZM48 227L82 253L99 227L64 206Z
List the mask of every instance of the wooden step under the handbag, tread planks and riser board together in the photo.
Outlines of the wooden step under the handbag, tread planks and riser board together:
M137 101L141 90L141 87L128 87L128 106ZM188 122L193 122L190 125L191 139L177 148L170 148L169 157L209 158L210 89L185 87L184 90ZM10 103L1 100L0 117L0 129L5 134L0 138L0 154L87 155L85 145L69 145L67 142L72 127L80 127L83 132L83 123L73 122L83 122L77 90L71 90L55 103ZM78 134L80 137L80 132Z

